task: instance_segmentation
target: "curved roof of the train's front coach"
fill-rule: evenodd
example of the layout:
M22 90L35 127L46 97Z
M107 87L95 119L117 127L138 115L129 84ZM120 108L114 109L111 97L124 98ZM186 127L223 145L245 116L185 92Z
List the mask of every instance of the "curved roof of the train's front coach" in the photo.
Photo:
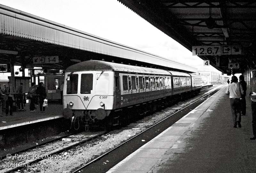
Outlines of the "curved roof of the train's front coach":
M113 62L98 61L98 60L79 62L77 64L74 64L68 67L65 71L72 72L72 71L105 71L105 70L171 75L170 72L162 69L139 67L139 66L126 65L126 64L117 64Z

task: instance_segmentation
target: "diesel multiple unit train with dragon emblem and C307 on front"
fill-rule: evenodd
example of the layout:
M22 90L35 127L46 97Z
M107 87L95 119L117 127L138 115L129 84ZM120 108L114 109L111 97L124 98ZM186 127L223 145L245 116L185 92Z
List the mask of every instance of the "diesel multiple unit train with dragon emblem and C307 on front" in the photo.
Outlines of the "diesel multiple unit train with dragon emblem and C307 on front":
M83 61L65 70L63 115L88 124L120 124L122 112L155 111L161 104L198 94L199 75L106 61ZM127 117L126 117L127 118ZM105 121L106 120L106 121ZM87 127L88 128L88 127Z

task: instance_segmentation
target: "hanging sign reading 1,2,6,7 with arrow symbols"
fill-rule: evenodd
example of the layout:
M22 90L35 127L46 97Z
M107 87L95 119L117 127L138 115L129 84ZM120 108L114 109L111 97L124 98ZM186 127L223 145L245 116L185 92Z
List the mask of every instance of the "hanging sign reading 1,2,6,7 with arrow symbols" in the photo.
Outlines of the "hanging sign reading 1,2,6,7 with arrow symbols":
M192 46L192 55L237 55L242 54L239 45Z

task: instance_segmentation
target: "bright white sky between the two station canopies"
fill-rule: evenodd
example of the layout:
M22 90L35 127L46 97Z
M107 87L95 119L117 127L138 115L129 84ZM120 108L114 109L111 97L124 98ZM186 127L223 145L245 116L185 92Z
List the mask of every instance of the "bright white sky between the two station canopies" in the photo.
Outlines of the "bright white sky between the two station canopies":
M1 0L0 4L171 59L198 70L203 60L117 0ZM192 47L191 47L192 49Z

